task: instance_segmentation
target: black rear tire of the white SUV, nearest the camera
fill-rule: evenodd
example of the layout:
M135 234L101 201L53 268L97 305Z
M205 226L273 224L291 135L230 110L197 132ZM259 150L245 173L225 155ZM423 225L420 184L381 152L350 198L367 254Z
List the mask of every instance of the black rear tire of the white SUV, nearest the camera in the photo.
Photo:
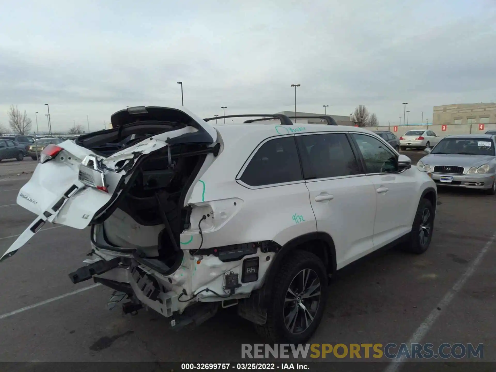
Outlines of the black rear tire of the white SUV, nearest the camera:
M296 290L299 289L299 284L303 283L303 277L306 273L309 275L307 284L310 283L310 286L305 288L308 288L308 294L313 295L302 298L301 295L305 291L296 293ZM318 279L319 287L315 287L317 285L315 278ZM296 250L284 260L275 275L272 286L271 301L267 308L267 321L263 325L255 325L258 334L271 343L305 343L317 329L324 313L327 297L327 271L323 262L313 253ZM290 294L290 286L295 290L296 297ZM318 288L320 288L319 295L316 294ZM295 301L288 301L287 296L295 298ZM315 300L317 296L319 298ZM312 308L316 308L316 310L312 310ZM310 311L301 309L310 309ZM293 310L296 310L296 313ZM286 313L288 317L294 314L294 321L289 322L289 328L293 328L293 332L286 326ZM307 316L307 313L310 316ZM313 315L312 318L311 315ZM310 323L307 326L304 324L304 320L309 318ZM299 323L298 326L297 323ZM301 325L306 328L300 328Z

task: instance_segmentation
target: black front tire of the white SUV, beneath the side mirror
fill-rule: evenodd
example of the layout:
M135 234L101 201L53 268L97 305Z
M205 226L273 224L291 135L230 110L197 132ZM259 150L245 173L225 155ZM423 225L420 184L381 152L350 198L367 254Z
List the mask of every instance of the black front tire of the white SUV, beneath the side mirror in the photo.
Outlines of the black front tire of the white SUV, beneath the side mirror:
M429 214L427 216L427 214ZM431 244L434 232L434 207L430 200L421 199L415 213L406 250L412 253L424 253Z

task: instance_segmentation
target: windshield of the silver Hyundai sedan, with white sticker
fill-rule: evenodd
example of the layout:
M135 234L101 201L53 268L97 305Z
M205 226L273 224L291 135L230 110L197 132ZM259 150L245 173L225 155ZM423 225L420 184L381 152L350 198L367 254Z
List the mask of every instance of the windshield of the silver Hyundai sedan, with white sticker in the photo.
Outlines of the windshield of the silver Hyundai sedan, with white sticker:
M491 138L444 138L431 154L495 155Z

